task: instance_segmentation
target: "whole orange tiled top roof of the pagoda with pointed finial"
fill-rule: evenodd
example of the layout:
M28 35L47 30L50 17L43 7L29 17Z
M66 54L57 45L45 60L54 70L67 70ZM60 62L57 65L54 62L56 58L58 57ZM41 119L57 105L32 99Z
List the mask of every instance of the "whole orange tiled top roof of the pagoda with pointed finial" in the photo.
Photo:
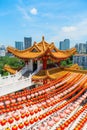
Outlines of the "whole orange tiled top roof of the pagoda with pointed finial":
M42 41L39 43L34 42L32 47L25 50L18 50L13 47L7 47L7 51L15 55L16 57L23 59L34 59L40 58L44 55L48 55L55 59L66 59L72 54L76 53L76 48L71 48L69 50L63 51L59 50L54 43L47 43L42 37Z

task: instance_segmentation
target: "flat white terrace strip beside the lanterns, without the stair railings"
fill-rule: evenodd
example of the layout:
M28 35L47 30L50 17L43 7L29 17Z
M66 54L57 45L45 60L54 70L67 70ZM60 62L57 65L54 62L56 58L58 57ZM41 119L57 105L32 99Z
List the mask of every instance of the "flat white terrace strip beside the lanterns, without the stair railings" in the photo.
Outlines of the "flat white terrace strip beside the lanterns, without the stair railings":
M33 83L31 82L31 75L26 79L18 80L16 82L10 83L9 85L0 85L0 96L24 89L31 85L33 85Z

